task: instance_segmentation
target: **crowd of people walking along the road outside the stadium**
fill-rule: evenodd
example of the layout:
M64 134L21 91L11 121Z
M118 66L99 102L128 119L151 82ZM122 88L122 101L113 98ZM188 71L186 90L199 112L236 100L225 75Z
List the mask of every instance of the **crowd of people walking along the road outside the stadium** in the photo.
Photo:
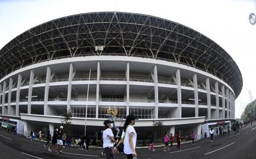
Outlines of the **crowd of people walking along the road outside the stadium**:
M102 155L104 155L105 158L113 159L115 153L119 152L126 154L126 157L128 159L137 157L137 153L135 150L137 144L137 133L134 129L135 120L136 118L133 115L128 115L126 117L121 137L114 136L111 126L113 123L112 121L104 121L104 129L102 130ZM210 136L210 142L212 143L215 136L229 136L231 133L232 135L236 135L242 127L246 127L246 124L235 122L231 125L231 127L229 125L221 125L217 128L215 127L214 129L210 128L209 131L205 131L204 139L207 140L208 133ZM32 130L30 136L31 140L36 140L36 136L38 136L40 142L40 140L43 138L43 133L42 131L39 131L39 133L37 133L35 130ZM195 134L193 131L190 133L189 137L191 139L191 145L195 145ZM53 133L47 131L46 140L47 143L44 144L44 147L48 148L49 152L52 152L52 149L55 148L57 154L60 154L62 152L61 149L64 146L71 147L72 140L72 143L76 148L86 149L86 151L88 151L89 145L92 144L92 150L97 150L95 135L90 137L89 135L80 136L78 139L72 139L71 136L63 132L63 126L60 126L60 128L56 127ZM170 150L169 143L170 147L172 148L174 142L177 143L176 150L181 150L180 132L176 132L176 135L170 133L170 136L168 135L168 133L165 133L163 136L163 150L165 152ZM151 135L150 137L150 147L148 149L155 151L154 135Z

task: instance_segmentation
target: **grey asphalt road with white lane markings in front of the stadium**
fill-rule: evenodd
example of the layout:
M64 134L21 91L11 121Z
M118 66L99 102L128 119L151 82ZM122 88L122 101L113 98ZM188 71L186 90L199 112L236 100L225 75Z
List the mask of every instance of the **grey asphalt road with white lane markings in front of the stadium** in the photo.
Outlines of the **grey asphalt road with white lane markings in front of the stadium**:
M0 158L88 158L97 159L104 158L101 156L101 149L97 151L63 148L62 154L48 152L43 147L43 142L30 141L26 137L16 136L9 132L0 131ZM248 125L240 129L236 135L217 136L210 143L209 140L196 141L195 145L190 143L181 144L181 150L177 151L174 147L167 152L163 151L163 147L155 148L152 152L147 148L137 149L138 158L143 159L159 159L159 158L209 158L209 159L255 159L256 158L256 124ZM116 154L115 158L126 158L124 154Z

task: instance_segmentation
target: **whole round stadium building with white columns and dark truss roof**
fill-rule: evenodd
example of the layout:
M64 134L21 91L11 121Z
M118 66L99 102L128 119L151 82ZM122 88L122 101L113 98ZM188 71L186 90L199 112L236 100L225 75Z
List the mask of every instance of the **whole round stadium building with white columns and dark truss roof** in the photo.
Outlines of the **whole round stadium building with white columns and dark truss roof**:
M31 129L59 127L73 112L69 133L100 132L107 110L115 125L133 114L139 139L162 121L166 132L234 120L242 76L213 40L150 15L92 12L51 20L15 37L0 51L0 120ZM88 91L89 90L89 91ZM210 123L210 124L209 124ZM209 127L202 125L208 124ZM121 128L122 129L122 128Z

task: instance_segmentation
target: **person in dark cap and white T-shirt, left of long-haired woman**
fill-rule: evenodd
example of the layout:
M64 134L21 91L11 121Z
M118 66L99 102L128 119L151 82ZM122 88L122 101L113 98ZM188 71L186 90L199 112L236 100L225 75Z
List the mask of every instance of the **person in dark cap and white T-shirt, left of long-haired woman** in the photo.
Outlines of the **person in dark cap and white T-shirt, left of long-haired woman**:
M113 147L114 147L114 143L117 143L117 141L115 141L114 139L114 134L112 132L112 129L110 128L111 123L112 122L110 120L104 121L105 128L102 135L103 150L105 152L107 159L114 158Z

